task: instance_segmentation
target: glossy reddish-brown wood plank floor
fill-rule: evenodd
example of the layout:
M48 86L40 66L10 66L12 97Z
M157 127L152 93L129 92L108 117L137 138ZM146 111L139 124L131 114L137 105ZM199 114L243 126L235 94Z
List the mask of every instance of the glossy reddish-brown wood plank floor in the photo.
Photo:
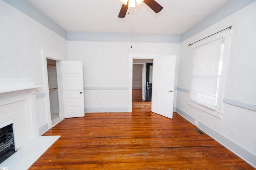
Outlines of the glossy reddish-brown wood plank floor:
M61 137L30 169L254 169L177 113L168 119L150 105L134 100L132 113L64 119L44 134Z

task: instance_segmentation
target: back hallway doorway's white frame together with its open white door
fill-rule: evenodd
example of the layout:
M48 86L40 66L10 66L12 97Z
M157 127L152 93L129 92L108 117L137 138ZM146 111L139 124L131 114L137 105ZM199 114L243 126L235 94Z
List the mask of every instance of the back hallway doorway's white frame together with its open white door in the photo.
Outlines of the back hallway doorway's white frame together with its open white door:
M132 66L134 59L153 59L151 111L172 119L176 55L129 54L129 107L132 112Z

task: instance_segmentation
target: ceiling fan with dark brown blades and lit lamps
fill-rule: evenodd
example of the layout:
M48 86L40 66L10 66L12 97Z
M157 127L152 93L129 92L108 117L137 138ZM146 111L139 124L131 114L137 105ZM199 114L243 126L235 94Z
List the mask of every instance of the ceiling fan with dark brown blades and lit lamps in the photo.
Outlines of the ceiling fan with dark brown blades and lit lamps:
M121 0L121 2L123 4L119 12L118 18L125 17L128 7L135 7L135 0L129 0L129 2L128 0ZM149 6L149 8L151 8L156 13L160 12L163 9L163 7L154 0L136 0L136 2L138 5L144 2L147 6Z

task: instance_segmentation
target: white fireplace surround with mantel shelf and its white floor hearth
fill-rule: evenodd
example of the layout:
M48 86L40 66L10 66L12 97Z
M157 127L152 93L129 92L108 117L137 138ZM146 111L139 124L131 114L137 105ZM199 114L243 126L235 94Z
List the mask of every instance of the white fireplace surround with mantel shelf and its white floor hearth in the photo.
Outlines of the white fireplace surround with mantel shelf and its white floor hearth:
M0 128L12 124L15 153L0 163L8 169L28 169L60 136L39 136L33 80L0 82ZM40 146L40 147L38 147Z

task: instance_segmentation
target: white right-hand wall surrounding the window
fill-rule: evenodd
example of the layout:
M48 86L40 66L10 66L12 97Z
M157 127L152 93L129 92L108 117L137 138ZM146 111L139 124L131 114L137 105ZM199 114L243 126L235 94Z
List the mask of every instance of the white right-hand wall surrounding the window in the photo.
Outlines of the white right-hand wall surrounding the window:
M256 105L256 2L217 22L206 30L183 41L180 45L178 63L177 111L187 119L199 123L224 136L256 158L256 112L223 103L222 119L187 104L192 59L191 46L188 44L209 36L232 25L232 38L228 60L224 99L237 101L240 105ZM213 133L212 133L213 134ZM222 141L224 142L224 140ZM232 146L227 146L228 148ZM239 153L238 153L239 154ZM243 157L243 156L242 156ZM253 161L253 156L251 156ZM250 159L250 158L249 158ZM252 162L251 162L252 163ZM255 160L254 160L254 164Z

